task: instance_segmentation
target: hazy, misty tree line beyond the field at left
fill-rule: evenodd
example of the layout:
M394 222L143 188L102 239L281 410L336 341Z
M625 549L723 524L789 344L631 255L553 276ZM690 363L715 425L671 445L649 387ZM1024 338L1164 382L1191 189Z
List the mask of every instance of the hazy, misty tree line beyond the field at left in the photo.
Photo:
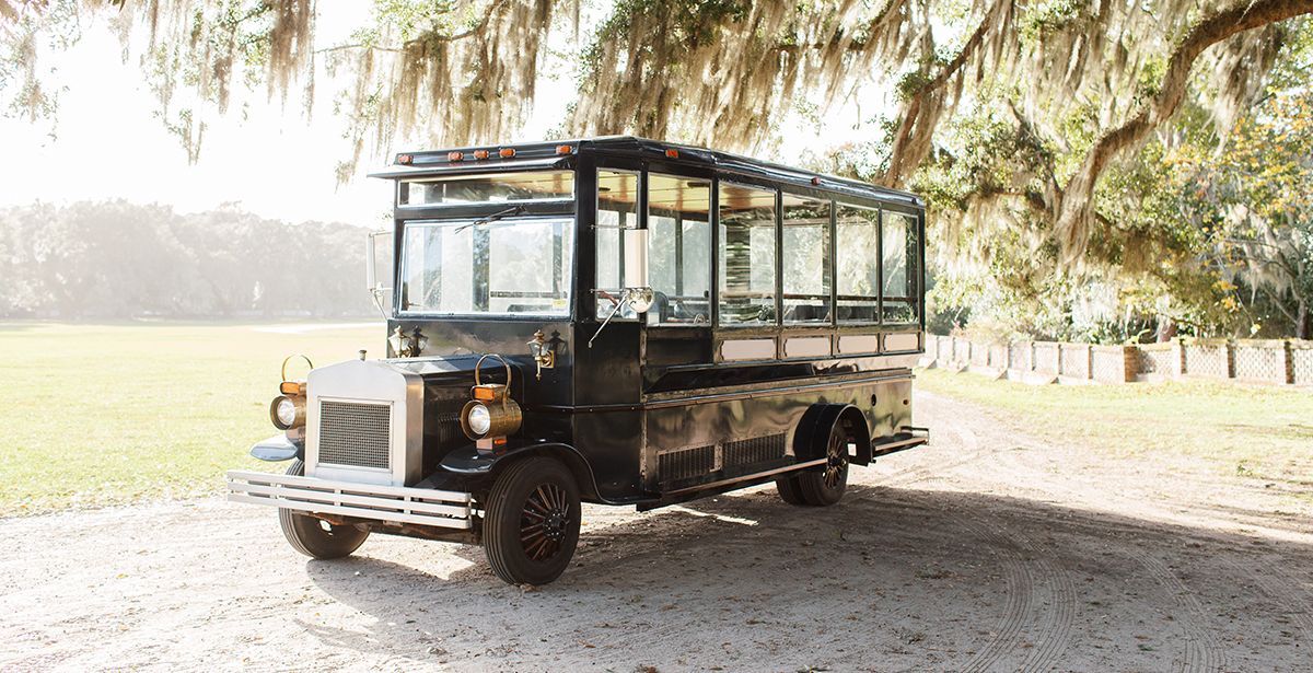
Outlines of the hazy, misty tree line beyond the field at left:
M377 315L364 237L358 226L293 225L238 208L9 208L0 210L0 317Z

